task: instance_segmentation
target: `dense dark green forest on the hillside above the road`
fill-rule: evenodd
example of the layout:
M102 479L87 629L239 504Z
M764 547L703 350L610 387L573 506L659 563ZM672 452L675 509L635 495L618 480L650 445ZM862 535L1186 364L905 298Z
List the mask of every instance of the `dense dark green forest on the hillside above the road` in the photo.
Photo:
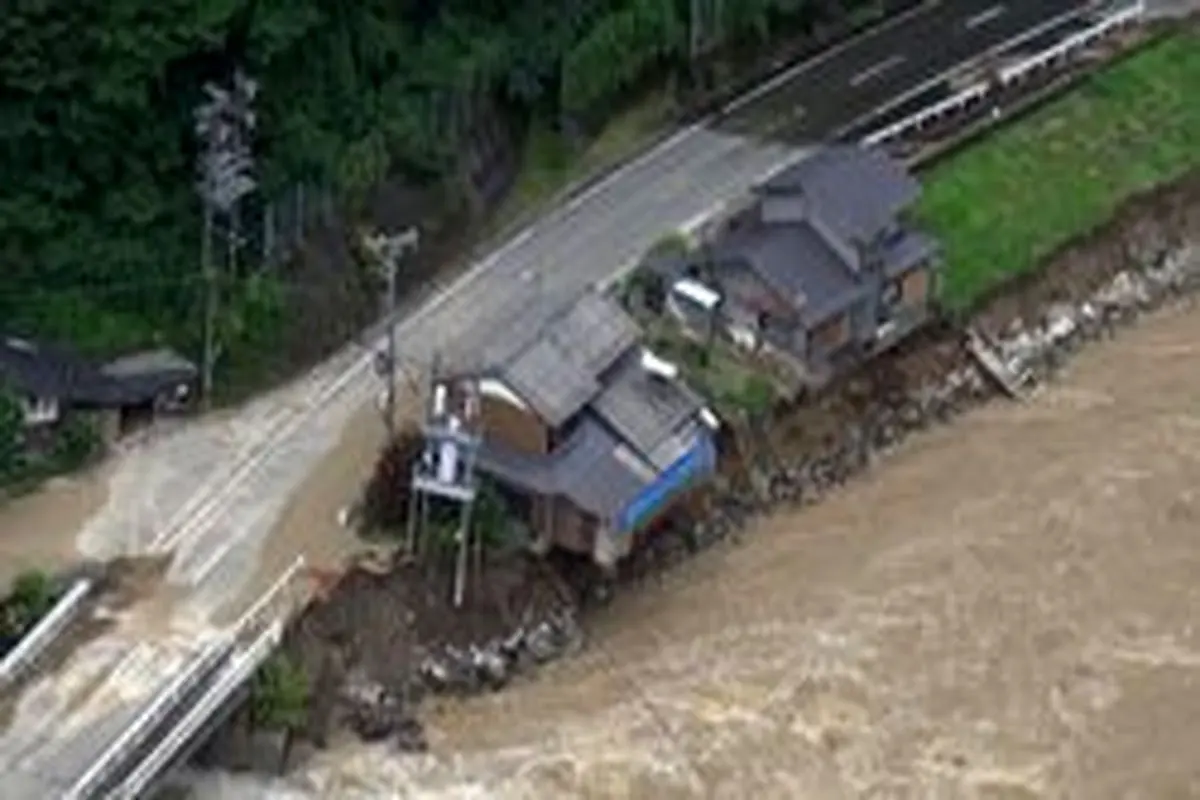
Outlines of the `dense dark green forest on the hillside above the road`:
M0 17L0 319L92 353L199 351L193 109L259 83L256 200L341 209L385 178L458 186L480 114L586 138L648 83L869 0L12 0ZM715 55L714 55L715 54ZM227 349L270 349L286 269L221 276Z

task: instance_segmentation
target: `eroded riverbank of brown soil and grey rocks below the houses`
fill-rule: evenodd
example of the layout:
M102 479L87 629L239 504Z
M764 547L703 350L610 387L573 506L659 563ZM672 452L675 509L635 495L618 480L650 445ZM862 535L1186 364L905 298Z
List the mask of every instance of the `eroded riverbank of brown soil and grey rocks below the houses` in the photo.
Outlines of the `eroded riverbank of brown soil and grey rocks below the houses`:
M1188 295L1198 282L1200 175L1194 174L1130 200L1108 225L989 297L972 325L996 338L1007 360L1045 378L1082 343L1111 336L1122 324ZM623 577L636 583L659 573L695 549L745 530L750 519L781 504L816 503L911 434L996 393L965 350L961 330L929 330L814 402L781 413L769 438L743 447L742 469L712 494L706 517L654 540L626 564ZM336 664L320 668L310 738L323 741L324 734L350 722L373 738L398 734L400 744L412 748L420 741L404 698L427 688L492 688L524 663L570 651L575 625L562 593L539 595L542 590L529 587L551 584L541 583L546 578L540 571L521 570L508 573L509 601L491 612L480 609L461 625L444 613L444 602L430 601L437 593L430 594L428 584L412 571L359 573L335 587L329 600L301 620L287 648L306 666ZM568 573L566 579L578 590L576 596L587 593L586 576ZM506 614L499 613L502 606ZM539 615L562 621L542 627ZM419 630L427 638L409 636ZM512 632L520 636L510 638ZM431 648L434 643L438 648ZM408 676L416 678L415 686L408 685ZM312 735L318 717L322 734ZM245 735L242 727L236 736ZM228 752L230 736L214 750Z

